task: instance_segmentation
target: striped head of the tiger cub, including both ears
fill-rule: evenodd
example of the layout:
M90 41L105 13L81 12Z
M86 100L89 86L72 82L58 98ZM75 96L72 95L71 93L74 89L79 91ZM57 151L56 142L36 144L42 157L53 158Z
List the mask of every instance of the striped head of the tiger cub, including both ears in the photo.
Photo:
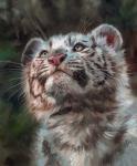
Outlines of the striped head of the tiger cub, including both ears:
M22 55L24 91L31 110L46 112L56 103L112 86L122 44L119 31L108 24L87 34L31 39Z

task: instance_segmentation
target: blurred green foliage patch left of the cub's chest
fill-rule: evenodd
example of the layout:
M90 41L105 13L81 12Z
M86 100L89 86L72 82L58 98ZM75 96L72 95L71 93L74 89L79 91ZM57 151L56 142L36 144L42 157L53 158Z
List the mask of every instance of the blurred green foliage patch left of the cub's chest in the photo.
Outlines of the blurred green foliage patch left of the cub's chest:
M0 102L0 141L13 148L24 141L29 142L36 127L35 121L21 110L17 113L10 104Z

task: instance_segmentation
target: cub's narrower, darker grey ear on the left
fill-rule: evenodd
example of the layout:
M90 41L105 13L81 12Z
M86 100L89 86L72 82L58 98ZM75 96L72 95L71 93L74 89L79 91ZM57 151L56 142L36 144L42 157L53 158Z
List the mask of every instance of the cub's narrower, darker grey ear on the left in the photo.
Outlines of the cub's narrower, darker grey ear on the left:
M34 55L39 52L39 50L43 45L43 42L44 41L41 38L33 38L27 43L21 58L22 64L25 65L32 61Z

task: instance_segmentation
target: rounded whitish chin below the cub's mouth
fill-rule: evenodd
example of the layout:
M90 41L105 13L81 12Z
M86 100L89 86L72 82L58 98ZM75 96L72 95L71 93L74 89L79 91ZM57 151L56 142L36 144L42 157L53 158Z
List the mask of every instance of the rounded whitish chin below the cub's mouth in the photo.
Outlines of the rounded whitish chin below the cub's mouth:
M60 102L68 96L71 97L83 93L77 82L64 72L55 72L49 76L45 82L45 91L49 96Z

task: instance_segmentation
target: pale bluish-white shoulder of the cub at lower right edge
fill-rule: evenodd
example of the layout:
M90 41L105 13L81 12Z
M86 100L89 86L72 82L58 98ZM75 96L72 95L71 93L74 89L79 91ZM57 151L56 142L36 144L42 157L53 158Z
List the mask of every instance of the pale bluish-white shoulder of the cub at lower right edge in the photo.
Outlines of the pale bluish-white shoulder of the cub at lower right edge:
M123 149L117 153L114 166L137 165L137 100L128 107L125 120L126 133L123 141Z

